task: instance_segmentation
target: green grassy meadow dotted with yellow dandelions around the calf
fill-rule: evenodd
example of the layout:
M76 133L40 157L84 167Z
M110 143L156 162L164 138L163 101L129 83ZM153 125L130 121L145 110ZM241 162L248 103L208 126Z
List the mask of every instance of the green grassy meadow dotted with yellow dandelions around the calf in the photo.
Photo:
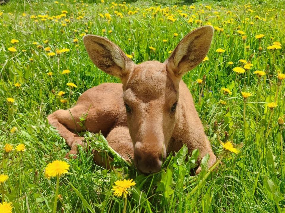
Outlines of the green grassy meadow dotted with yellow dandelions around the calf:
M55 197L56 212L66 213L285 212L284 7L284 0L1 5L0 212L53 212ZM89 132L82 135L119 167L99 167L83 149L64 159L69 147L47 115L89 88L119 82L91 62L85 34L109 38L135 63L163 62L203 25L215 29L210 51L183 80L220 165L208 170L205 157L202 172L190 176L198 151L187 156L183 147L161 172L143 175ZM227 141L237 153L224 149ZM69 167L60 178L47 175L55 160ZM113 190L123 179L135 182L125 197Z

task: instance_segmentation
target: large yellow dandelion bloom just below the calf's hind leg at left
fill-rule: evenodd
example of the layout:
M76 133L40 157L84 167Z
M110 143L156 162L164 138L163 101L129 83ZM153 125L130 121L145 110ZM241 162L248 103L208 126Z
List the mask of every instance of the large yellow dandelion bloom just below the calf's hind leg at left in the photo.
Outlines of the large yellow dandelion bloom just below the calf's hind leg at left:
M65 161L55 160L45 167L45 174L49 177L56 177L66 174L69 170L69 164Z

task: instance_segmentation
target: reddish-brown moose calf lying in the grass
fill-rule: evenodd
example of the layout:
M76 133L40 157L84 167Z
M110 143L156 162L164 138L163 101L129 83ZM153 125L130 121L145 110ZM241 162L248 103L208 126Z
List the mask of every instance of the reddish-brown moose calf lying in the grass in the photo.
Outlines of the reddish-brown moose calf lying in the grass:
M187 34L164 62L134 64L107 38L85 35L84 46L93 63L122 83L103 83L84 92L68 110L57 110L47 119L77 154L77 145L87 146L79 118L87 113L84 130L101 133L108 144L143 173L158 172L171 151L186 144L189 153L199 149L201 159L208 153L208 167L216 156L194 107L182 76L206 56L213 28L204 26ZM96 155L94 155L96 156ZM94 157L97 164L105 159ZM198 167L196 173L200 172Z

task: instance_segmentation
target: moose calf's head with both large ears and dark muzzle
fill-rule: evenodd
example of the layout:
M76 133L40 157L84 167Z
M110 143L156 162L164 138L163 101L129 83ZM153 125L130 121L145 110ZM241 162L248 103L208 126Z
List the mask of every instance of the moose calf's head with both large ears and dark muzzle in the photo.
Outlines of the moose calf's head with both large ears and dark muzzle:
M134 64L110 40L84 36L85 48L94 64L123 83L134 163L140 171L151 173L161 169L175 127L175 115L181 113L179 82L183 74L205 58L212 37L211 26L197 28L180 41L164 63Z

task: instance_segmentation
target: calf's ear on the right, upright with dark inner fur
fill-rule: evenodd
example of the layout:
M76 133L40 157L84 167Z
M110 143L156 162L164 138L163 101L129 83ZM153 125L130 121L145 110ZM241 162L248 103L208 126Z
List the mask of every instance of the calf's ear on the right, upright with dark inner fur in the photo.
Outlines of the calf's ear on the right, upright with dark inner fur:
M209 51L213 32L212 26L204 26L188 33L166 60L167 70L182 78L183 74L196 67Z

